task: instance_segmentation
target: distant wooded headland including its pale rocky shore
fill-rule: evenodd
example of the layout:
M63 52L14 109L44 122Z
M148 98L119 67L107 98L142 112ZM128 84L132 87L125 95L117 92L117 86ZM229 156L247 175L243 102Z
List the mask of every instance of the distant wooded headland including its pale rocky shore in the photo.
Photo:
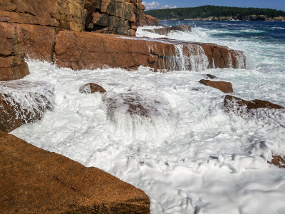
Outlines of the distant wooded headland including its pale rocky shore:
M285 11L276 9L245 8L235 6L197 6L145 11L159 20L202 21L285 21Z

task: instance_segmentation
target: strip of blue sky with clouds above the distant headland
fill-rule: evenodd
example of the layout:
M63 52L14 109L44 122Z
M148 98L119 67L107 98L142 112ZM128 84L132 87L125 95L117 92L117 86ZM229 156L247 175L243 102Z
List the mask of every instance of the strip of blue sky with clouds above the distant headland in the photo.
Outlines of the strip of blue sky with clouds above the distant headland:
M177 8L177 7L193 7L202 5L217 5L217 6L242 6L242 7L259 7L270 8L285 11L285 0L142 0L147 10L150 9L164 9L164 8Z

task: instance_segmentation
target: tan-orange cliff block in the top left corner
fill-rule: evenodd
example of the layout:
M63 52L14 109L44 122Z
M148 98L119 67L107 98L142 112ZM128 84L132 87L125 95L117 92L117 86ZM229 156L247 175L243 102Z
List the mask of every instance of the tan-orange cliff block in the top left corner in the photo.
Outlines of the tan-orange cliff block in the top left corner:
M0 2L0 19L10 23L83 31L84 15L83 0L4 0Z

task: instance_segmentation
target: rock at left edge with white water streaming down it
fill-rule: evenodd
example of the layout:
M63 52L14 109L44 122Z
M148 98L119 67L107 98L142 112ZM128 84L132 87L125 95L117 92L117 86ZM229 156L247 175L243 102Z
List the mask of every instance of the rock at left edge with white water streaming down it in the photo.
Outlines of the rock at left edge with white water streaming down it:
M0 126L6 132L38 121L55 106L53 87L41 81L1 82L0 93Z

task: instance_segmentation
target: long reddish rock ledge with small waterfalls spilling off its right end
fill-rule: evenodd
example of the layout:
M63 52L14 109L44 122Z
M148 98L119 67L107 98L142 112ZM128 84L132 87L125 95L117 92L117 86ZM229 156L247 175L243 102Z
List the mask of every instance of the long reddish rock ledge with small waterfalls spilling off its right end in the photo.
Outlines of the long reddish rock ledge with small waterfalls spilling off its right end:
M94 32L60 31L56 36L54 60L58 66L80 69L126 68L138 66L173 70L244 68L245 56L216 44L198 44L171 39L143 39ZM197 65L191 63L195 59ZM240 64L240 58L244 64ZM181 64L182 59L184 63Z

